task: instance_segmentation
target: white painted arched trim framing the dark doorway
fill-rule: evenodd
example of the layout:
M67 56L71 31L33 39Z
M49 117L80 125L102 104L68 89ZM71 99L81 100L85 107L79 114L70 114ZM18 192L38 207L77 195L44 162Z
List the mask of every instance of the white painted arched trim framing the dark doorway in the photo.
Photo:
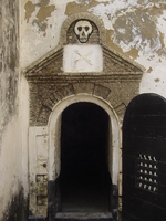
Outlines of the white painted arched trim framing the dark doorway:
M55 180L61 171L61 116L62 112L74 103L90 102L101 106L110 116L110 147L108 147L108 170L112 177L112 183L117 185L120 172L120 123L111 105L101 97L90 94L77 94L65 97L59 102L49 118L49 180Z

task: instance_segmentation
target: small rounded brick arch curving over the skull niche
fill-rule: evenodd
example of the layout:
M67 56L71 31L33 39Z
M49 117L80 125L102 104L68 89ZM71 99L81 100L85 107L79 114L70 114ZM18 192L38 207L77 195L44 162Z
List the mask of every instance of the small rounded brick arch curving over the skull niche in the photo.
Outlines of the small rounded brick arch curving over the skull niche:
M81 13L75 13L71 17L69 17L64 23L62 24L61 28L61 34L60 34L60 44L65 45L68 43L68 30L72 25L73 22L77 20L89 20L93 22L96 28L98 29L98 34L100 34L100 44L105 45L105 39L106 39L106 33L105 33L105 27L102 20L98 19L98 17L89 13L89 12L81 12Z

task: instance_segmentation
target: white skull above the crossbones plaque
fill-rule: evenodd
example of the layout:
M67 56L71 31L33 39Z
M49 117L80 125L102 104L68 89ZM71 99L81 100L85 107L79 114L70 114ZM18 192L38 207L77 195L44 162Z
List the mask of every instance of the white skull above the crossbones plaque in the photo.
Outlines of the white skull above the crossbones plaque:
M92 31L92 24L85 20L77 21L74 27L74 32L81 43L87 42Z

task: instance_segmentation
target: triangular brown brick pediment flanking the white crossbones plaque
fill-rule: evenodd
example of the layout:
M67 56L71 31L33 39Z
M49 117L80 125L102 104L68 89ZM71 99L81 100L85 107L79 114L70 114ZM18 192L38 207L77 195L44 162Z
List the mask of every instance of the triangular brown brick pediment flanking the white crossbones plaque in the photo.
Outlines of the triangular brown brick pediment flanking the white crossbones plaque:
M100 45L101 46L101 45ZM106 46L101 46L103 56L103 70L97 72L79 71L73 72L72 75L89 74L89 75L118 75L121 74L143 74L144 69L135 62L128 60L125 56L117 54ZM27 78L33 77L49 77L58 75L71 74L69 71L64 71L64 48L56 48L54 51L48 53L42 59L33 63L25 71ZM81 57L82 59L82 57ZM83 57L85 59L85 57ZM86 59L86 62L87 59ZM96 61L97 63L100 61ZM90 63L91 64L91 63Z

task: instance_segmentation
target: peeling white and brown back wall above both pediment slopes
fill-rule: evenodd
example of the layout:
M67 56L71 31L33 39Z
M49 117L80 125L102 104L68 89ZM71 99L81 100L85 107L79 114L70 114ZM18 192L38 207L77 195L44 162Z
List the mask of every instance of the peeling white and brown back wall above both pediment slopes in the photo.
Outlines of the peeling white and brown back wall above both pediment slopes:
M166 2L164 0L23 0L21 65L25 67L60 41L64 20L92 12L103 20L106 43L143 65L139 92L166 97Z

